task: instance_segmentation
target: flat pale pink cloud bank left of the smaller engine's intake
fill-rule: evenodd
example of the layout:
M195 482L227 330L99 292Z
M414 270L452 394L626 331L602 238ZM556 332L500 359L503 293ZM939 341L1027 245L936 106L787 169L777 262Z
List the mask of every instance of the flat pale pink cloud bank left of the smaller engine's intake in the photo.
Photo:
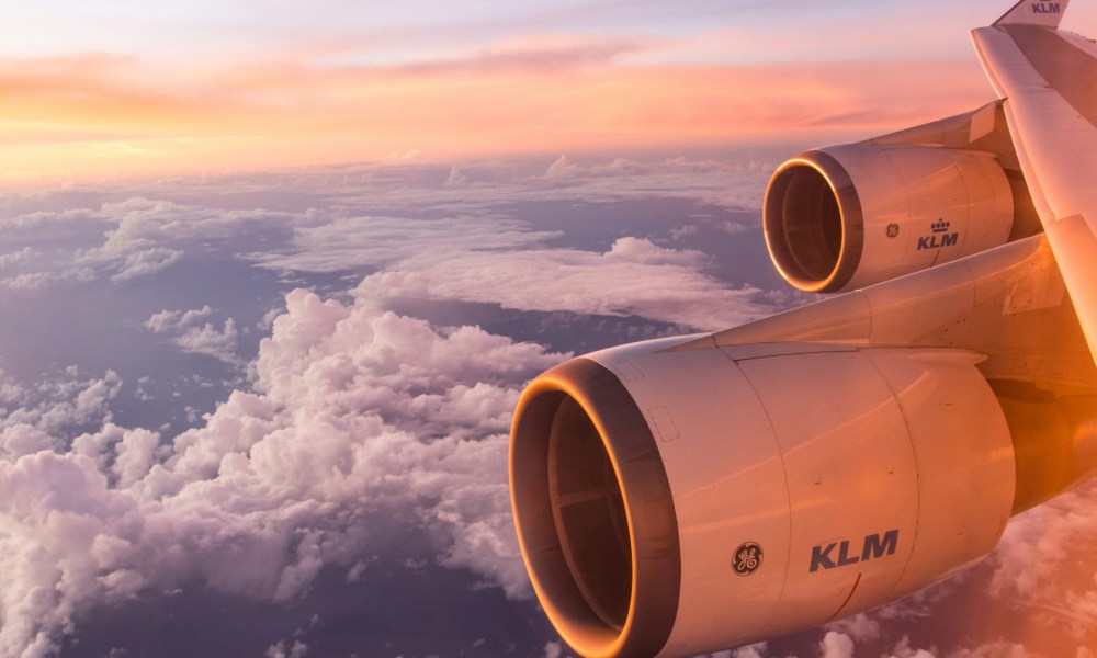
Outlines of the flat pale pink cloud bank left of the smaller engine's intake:
M767 315L760 291L701 274L699 251L621 238L609 251L430 252L367 276L362 298L412 297L501 304L522 310L633 315L715 330Z

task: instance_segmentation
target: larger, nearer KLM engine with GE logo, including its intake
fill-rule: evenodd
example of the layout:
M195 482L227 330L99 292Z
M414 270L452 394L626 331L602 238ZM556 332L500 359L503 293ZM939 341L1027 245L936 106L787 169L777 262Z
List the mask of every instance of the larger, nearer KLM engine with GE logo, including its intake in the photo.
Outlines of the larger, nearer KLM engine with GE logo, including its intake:
M579 654L691 655L806 628L999 538L1015 457L980 356L681 344L573 359L516 412L522 556Z

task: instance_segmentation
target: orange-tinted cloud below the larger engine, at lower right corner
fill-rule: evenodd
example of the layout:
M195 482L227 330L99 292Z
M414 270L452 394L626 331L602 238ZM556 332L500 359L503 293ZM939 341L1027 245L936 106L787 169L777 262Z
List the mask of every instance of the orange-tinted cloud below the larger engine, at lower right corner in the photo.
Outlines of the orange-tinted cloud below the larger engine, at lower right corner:
M1090 481L1016 517L983 564L825 626L826 650L838 634L889 658L1085 656L1097 643L1095 497Z

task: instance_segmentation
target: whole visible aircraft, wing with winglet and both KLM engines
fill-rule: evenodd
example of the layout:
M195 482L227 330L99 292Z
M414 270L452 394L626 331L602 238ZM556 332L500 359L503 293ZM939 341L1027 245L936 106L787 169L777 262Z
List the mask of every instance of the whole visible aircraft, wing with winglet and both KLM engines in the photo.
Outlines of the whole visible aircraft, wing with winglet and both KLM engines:
M533 589L588 657L742 646L964 569L1097 475L1097 45L973 32L999 99L779 166L766 247L845 293L574 358L514 411Z

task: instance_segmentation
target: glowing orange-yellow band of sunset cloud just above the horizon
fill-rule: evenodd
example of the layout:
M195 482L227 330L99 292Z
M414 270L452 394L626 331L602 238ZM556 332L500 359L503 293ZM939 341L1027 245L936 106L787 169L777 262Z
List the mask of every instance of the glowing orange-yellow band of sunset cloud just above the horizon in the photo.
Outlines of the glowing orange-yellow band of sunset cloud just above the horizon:
M850 138L993 98L974 61L624 66L606 56L516 49L392 68L9 60L0 63L0 180L377 160L410 150L472 157Z

